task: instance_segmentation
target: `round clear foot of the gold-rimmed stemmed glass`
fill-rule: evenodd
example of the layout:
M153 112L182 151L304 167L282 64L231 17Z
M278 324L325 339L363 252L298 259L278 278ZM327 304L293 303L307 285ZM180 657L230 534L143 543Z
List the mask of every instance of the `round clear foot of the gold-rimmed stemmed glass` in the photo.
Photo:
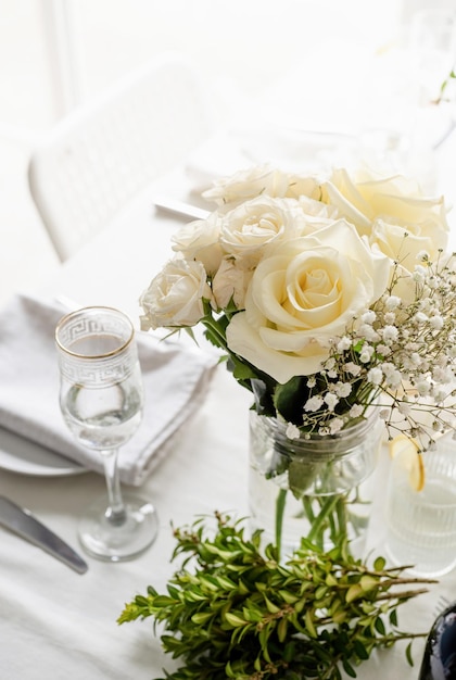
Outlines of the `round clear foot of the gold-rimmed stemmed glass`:
M89 506L79 521L79 541L91 556L105 562L132 559L154 542L159 519L154 506L135 495L124 495L126 518L115 525L106 516L106 499Z

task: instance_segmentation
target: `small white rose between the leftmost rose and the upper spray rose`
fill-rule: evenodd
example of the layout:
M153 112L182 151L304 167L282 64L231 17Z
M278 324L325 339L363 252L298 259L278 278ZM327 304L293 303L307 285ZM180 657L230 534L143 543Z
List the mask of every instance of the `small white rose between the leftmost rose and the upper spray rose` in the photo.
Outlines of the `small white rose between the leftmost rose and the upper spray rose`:
M220 221L215 213L207 219L190 222L172 237L173 250L187 260L199 260L207 274L215 274L223 257L219 231Z

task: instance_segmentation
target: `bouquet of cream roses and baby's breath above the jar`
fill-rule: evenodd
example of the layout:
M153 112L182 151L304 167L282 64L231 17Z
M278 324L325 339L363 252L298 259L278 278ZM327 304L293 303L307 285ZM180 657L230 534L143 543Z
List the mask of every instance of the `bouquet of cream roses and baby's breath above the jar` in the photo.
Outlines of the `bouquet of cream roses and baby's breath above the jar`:
M333 436L379 405L389 436L455 429L456 261L443 198L400 175L268 166L215 182L173 239L142 329L197 324L259 414Z

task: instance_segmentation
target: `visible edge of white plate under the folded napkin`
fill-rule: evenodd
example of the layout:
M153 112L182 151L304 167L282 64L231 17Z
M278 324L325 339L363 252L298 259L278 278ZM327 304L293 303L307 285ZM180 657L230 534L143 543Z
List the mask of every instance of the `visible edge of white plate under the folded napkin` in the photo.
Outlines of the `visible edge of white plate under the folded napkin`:
M0 468L35 477L64 477L88 470L14 432L0 428Z

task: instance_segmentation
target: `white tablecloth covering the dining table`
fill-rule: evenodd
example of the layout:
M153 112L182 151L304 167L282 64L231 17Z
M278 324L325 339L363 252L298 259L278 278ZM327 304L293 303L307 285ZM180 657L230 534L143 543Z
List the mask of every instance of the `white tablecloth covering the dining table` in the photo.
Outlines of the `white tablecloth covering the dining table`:
M170 180L169 187L174 198L192 200L178 182ZM148 187L109 227L51 273L39 290L26 292L78 306L115 306L141 332L139 297L172 255L170 237L185 224L181 217L154 206L163 190L163 184ZM213 349L202 339L199 351ZM160 528L152 546L135 559L110 563L86 556L88 570L79 575L0 528L1 680L151 680L164 678L163 669L177 668L179 662L164 654L160 630L154 631L151 618L123 625L117 619L125 604L145 594L148 585L165 592L180 566L172 561L174 527L213 517L215 511L248 518L250 406L249 391L224 363L217 365L203 403L136 489L155 506ZM0 429L0 450L4 448ZM0 456L0 494L27 507L81 552L78 518L86 504L104 492L103 476L80 468L29 469L20 455L15 463L11 456L8 459L8 465L2 464ZM375 473L378 483L368 534L372 554L384 553L389 465L388 452L383 452ZM427 589L398 608L402 630L429 632L442 599L456 600L456 571ZM413 667L406 659L406 644L376 651L356 668L357 678L416 680L425 638L413 644Z

